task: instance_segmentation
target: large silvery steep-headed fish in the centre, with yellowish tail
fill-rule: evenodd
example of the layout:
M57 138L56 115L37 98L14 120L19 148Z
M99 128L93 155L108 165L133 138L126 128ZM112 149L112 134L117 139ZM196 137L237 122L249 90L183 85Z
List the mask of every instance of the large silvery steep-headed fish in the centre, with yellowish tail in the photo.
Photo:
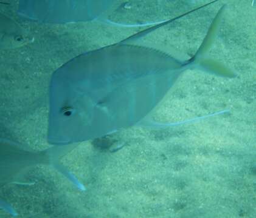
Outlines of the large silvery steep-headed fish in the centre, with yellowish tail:
M225 6L216 15L195 56L187 61L136 44L137 39L199 8L116 44L81 54L58 68L50 82L49 143L64 145L133 125L154 125L144 119L187 69L234 77L232 71L207 56Z

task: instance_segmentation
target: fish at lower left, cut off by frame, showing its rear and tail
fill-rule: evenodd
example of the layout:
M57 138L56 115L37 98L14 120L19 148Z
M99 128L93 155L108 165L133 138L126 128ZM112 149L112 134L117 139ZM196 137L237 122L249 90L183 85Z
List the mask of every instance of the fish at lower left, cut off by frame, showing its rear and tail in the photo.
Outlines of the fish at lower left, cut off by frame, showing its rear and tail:
M85 190L85 187L78 182L77 178L59 162L61 157L73 150L77 145L66 145L64 147L52 147L44 151L32 152L22 150L20 145L10 140L0 139L0 187L7 183L17 183L21 185L32 185L32 182L24 180L24 174L29 168L37 164L45 164L54 167L60 173L71 180L74 185ZM16 216L16 211L9 203L0 199L0 208L7 213Z

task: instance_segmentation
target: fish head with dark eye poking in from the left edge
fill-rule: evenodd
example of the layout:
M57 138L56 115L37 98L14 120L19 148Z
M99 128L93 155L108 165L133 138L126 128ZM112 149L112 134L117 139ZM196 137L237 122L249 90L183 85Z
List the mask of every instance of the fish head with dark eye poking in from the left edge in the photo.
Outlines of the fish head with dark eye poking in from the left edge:
M18 48L33 41L16 21L0 13L0 49Z

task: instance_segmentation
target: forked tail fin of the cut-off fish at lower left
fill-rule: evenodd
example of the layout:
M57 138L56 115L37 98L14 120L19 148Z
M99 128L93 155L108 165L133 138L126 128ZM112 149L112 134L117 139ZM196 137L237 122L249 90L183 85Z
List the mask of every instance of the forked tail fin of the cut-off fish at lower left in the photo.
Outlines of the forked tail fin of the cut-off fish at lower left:
M70 153L74 148L78 146L77 143L74 144L67 144L61 146L54 146L48 148L47 150L41 151L41 155L43 156L44 164L50 165L55 168L58 172L63 174L69 181L71 181L75 187L77 187L81 191L85 191L85 186L79 182L79 180L67 170L66 167L62 163L60 163L60 159L64 157L66 154Z

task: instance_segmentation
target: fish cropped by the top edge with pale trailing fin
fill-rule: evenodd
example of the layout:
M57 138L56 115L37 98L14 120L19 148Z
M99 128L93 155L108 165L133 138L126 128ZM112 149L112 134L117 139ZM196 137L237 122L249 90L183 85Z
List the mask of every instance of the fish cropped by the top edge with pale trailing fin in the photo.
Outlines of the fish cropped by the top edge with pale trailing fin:
M100 21L119 27L142 27L161 23L122 24L109 20L116 0L19 0L18 15L38 22L65 24L79 21Z

